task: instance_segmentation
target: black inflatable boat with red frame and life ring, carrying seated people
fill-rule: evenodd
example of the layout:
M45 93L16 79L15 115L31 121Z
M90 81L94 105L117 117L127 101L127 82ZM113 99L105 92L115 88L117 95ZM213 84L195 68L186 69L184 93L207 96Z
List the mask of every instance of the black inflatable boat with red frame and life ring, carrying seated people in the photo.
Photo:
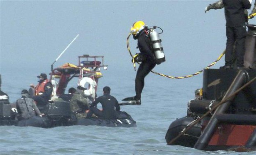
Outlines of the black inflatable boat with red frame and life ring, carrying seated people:
M75 114L70 110L70 102L65 99L67 96L65 94L67 84L74 77L77 77L78 86L87 88L87 90L84 90L83 95L89 98L89 102L92 103L97 96L98 80L102 77L100 68L107 69L107 65L104 64L104 56L89 56L87 54L78 56L78 65L66 63L55 69L52 67L50 81L53 86L53 92L45 116L36 116L28 120L18 121L16 118L17 109L15 103L0 102L0 125L35 126L42 128L70 125L135 127L136 121L125 111L116 111L117 118L95 117L77 120ZM34 92L33 88L30 88L29 92Z

